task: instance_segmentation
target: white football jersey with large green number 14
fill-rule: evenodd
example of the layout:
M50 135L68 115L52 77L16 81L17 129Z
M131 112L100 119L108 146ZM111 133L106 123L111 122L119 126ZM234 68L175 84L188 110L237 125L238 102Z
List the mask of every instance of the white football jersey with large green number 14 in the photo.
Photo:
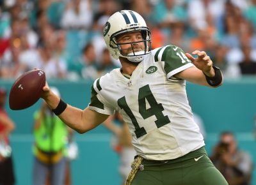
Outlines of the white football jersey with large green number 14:
M145 159L175 159L204 146L188 103L186 82L173 75L193 66L173 45L156 48L138 64L131 78L120 68L95 80L89 108L122 114L132 144Z

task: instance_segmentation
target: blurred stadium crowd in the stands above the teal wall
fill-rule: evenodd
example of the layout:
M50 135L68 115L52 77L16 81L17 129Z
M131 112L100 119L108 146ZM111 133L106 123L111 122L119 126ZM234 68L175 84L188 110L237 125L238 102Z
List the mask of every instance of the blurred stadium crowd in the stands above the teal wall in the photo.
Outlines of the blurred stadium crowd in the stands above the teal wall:
M0 78L40 68L47 78L94 80L116 66L102 30L118 10L143 15L152 48L205 50L224 77L256 75L256 0L0 1Z

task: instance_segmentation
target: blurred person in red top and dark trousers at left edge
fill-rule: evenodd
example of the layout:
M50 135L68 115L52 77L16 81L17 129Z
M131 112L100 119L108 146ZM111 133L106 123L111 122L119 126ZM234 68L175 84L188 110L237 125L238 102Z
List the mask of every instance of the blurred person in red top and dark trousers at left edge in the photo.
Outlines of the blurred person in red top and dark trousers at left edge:
M13 185L15 175L9 137L15 125L4 108L6 95L6 89L0 87L0 184Z

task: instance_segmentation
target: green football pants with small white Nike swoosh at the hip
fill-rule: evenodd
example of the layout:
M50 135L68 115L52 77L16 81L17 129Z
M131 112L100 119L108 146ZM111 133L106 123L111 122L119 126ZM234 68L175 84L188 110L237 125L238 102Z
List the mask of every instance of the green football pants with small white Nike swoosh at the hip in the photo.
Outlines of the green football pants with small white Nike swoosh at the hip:
M168 161L143 159L131 185L228 185L205 148Z

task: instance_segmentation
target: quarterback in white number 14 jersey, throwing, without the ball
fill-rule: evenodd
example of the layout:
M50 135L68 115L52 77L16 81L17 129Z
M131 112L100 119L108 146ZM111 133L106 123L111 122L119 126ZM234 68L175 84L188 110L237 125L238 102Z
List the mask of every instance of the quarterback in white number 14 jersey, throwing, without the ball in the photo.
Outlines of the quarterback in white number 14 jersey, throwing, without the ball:
M193 52L195 58L175 45L152 50L145 20L131 10L111 15L103 36L122 68L95 80L84 110L67 105L45 85L42 98L52 111L79 133L115 111L122 114L136 149L125 184L226 185L205 152L186 94L186 80L220 86L220 69L204 51Z

